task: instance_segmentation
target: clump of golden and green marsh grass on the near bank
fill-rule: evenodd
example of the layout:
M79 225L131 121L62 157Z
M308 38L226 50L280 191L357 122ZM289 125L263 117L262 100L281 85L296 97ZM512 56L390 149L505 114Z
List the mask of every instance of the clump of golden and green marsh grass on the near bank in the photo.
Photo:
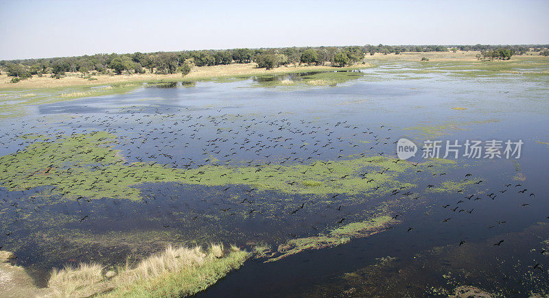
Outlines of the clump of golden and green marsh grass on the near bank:
M100 264L55 269L48 286L58 297L185 297L211 286L247 258L235 246L225 251L215 243L207 249L170 245L135 266L117 267L117 272L104 273Z

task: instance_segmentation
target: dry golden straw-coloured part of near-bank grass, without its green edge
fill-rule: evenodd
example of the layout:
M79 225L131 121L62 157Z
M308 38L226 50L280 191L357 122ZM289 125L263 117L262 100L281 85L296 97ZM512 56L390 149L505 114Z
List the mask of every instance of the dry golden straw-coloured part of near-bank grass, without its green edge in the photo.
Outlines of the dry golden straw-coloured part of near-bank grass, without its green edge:
M231 251L236 253L247 253L240 251L237 247L231 246ZM181 293L196 293L202 289L204 280L215 282L217 272L212 272L207 265L215 262L227 262L232 260L231 256L224 258L224 247L222 244L211 243L205 251L201 247L178 247L171 245L161 253L156 253L137 264L131 266L126 264L120 266L117 272L104 272L100 264L80 264L77 268L67 266L63 269L55 269L51 273L48 282L49 288L53 290L56 297L89 297L93 295L106 295L117 297L128 295L137 290L146 289L151 284L157 285L158 280L170 280L173 275L184 275L187 272L193 274L192 280L185 281L180 286L184 289ZM240 259L233 262L243 262ZM231 261L228 261L231 262ZM241 264L241 263L240 263ZM201 271L204 269L204 271ZM220 277L218 277L220 278ZM198 284L198 285L197 285ZM150 288L149 290L154 290ZM111 293L111 291L113 291Z

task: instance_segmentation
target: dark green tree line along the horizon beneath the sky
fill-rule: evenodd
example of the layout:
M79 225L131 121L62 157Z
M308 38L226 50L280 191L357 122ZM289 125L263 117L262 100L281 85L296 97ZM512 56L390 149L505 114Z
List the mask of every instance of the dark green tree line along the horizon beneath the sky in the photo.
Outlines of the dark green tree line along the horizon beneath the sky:
M157 73L173 74L191 71L191 66L213 66L255 62L265 69L288 64L347 66L360 62L364 55L400 54L406 51L481 51L484 58L509 59L530 49L546 53L548 45L364 45L349 47L288 47L271 49L228 49L156 53L95 54L78 57L3 60L0 68L14 77L13 81L37 75L60 78L65 73L91 74Z

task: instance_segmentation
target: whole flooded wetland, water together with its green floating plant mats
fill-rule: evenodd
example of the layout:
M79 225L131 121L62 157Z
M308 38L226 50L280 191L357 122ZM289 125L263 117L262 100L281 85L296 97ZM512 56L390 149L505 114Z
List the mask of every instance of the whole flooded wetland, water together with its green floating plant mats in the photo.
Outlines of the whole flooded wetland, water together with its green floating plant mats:
M52 266L223 242L261 253L201 296L547 294L548 80L413 66L149 84L1 119L0 246L40 286ZM401 137L524 145L404 162Z

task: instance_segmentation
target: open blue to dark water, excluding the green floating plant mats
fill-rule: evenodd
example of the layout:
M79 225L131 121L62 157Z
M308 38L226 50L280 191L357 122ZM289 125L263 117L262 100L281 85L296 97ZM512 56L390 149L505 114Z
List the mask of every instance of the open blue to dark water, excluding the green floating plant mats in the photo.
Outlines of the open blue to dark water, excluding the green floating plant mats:
M340 156L346 158L361 153L395 156L393 142L403 136L417 143L428 138L459 140L460 144L467 139L521 139L524 141L522 156L517 160L460 158L458 166L449 169L445 176L407 173L400 177L403 181L413 179L417 188L410 191L421 193L423 198L421 203L410 203L411 208L395 210L401 214L402 223L393 229L331 249L304 251L277 262L248 260L241 269L200 295L347 295L342 294L344 290L361 284L343 283L340 277L344 273L366 270L378 262L377 258L386 256L396 258L397 265L377 274L391 280L379 277L369 293L421 296L428 287L452 289L460 283L504 295L548 291L549 257L532 253L532 249L539 251L544 247L541 241L549 238L549 227L541 225L535 232L529 229L546 223L549 216L546 195L549 145L541 143L549 142L546 82L511 75L458 79L430 74L402 79L372 70L365 72L363 77L332 87L250 87L261 80L299 80L300 77L286 75L239 82L198 82L195 86L162 84L154 86L159 88L141 88L127 95L39 105L30 116L0 122L0 155L15 153L33 142L16 138L18 135L97 130L119 136L121 142L116 148L121 149L121 155L126 156L128 162L158 162L183 169L207 164L212 158L218 160L217 164L242 166L268 162L309 164L314 160L337 160ZM467 110L452 110L454 107ZM434 128L422 130L425 126ZM241 145L245 148L240 148ZM421 157L412 160L419 162ZM423 193L430 184L460 180L466 174L482 179L482 185L464 193ZM518 174L521 179L513 179ZM522 186L515 186L517 184ZM259 243L275 248L290 238L314 236L335 227L342 216L349 222L360 221L360 214L391 199L389 195L359 198L353 201L351 210L338 212L335 208L340 203L356 198L343 194L338 197L340 201L326 206L315 195L289 197L277 191L247 194L250 186L244 185L231 186L226 192L222 191L224 187L176 183L135 187L142 190L147 201L104 198L58 202L55 197L37 201L29 198L44 189L47 191L47 187L24 192L0 189L0 246L14 251L18 256L16 262L27 266L38 284L44 285L51 266L90 260L114 265L126 258L138 260L161 249L154 241L143 244L132 240L131 233L135 231L150 232L147 237L162 244L222 241L246 249ZM518 193L524 188L528 190L526 193ZM501 190L506 191L500 193ZM490 193L497 194L496 199L490 199L487 196ZM464 198L471 194L482 199ZM253 203L231 200L231 196L242 198L244 195ZM456 203L459 200L463 202ZM288 206L299 206L303 202L309 208L296 216L288 215ZM523 203L528 205L520 206ZM441 207L446 204L451 206ZM450 210L456 206L458 210L474 209L474 212ZM223 212L223 208L231 211ZM259 213L245 216L250 208ZM232 212L235 214L231 215ZM74 214L93 216L77 224L71 219ZM266 214L277 216L264 216ZM450 221L441 223L449 217ZM505 223L498 224L498 221ZM408 232L408 227L413 229ZM73 233L74 230L92 235L115 233L113 237L124 234L128 240L115 249L100 242L75 245L63 237L65 231ZM55 234L58 236L52 236ZM503 245L494 247L487 243L499 238L506 239ZM452 264L428 251L447 247L455 258L471 259L456 252L462 240L476 248L477 256L501 256L477 260L467 270L480 272L484 266L504 261L509 266L497 270L505 275L456 277L455 284L449 284L441 277L445 274L443 271L458 270L458 264L465 263L465 259ZM138 249L132 249L133 246ZM419 268L420 265L413 262L417 254L428 259L421 264L429 264L428 269L417 276L393 276L393 271L399 269ZM536 263L544 270L528 268ZM360 272L365 275L364 271ZM530 277L534 275L535 278L531 278L534 282L517 282L505 277L527 273ZM391 283L399 286L390 288L393 292L384 292ZM342 284L347 288L340 288Z

